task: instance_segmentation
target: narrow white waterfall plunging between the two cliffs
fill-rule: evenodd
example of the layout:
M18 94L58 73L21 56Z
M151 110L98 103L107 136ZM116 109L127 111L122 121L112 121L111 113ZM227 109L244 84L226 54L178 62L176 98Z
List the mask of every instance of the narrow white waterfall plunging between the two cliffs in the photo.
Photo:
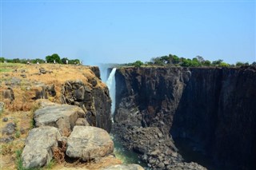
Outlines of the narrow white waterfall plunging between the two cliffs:
M115 79L114 79L114 73L117 69L113 68L111 70L110 76L107 78L106 85L110 90L110 98L112 100L111 103L111 114L113 116L114 109L115 109Z

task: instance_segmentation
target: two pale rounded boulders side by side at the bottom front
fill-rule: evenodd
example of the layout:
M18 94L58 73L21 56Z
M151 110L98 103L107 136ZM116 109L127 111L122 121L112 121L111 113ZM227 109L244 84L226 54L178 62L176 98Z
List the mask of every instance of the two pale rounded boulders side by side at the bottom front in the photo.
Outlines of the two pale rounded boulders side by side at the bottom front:
M58 128L42 126L29 132L22 152L22 164L24 168L43 167L54 158L54 152L62 155L62 159L66 153L70 159L89 161L101 159L113 151L114 143L102 128L74 126L70 136L63 137Z

